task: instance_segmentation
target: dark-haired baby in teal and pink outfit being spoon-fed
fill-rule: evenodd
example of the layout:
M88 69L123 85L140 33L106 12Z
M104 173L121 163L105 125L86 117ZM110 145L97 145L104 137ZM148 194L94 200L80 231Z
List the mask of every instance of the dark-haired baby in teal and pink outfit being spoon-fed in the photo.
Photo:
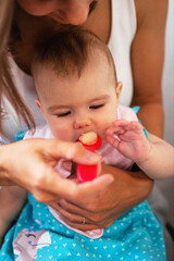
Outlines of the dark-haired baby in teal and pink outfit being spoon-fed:
M150 177L173 175L171 158L170 166L169 162L159 162L161 154L169 157L173 148L150 134L148 140L134 111L119 104L122 83L116 79L108 47L95 35L67 27L45 40L34 59L33 76L36 103L47 124L27 132L25 138L55 137L76 142L83 134L95 132L102 139L97 150L102 163L130 170L136 162ZM157 148L158 154L153 152ZM58 175L70 175L63 169L63 159L57 170ZM3 195L11 199L8 206L1 203ZM1 236L14 216L12 206L18 195L22 199L25 191L10 187L0 191ZM21 204L16 203L18 209ZM163 229L147 201L105 229L86 231L80 216L79 223L82 229L73 228L58 211L29 194L16 224L5 236L0 257L23 261L165 260Z

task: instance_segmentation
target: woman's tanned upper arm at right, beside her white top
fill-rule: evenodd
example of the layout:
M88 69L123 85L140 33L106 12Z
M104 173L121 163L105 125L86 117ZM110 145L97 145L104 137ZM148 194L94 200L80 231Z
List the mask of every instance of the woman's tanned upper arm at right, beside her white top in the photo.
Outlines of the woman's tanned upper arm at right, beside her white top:
M134 77L133 105L140 105L138 117L152 134L162 137L162 71L164 60L167 0L135 0L137 33L132 46Z

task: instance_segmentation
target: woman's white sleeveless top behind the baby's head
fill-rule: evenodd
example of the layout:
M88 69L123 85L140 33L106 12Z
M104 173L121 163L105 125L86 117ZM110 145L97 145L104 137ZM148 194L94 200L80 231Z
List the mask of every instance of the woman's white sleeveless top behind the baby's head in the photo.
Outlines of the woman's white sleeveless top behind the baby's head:
M111 4L112 26L108 46L115 62L117 80L123 82L121 104L129 105L133 97L130 46L136 33L137 24L135 4L134 0L111 0ZM33 78L20 70L12 59L10 59L10 62L14 84L25 103L33 112L36 125L45 123L41 112L35 104L37 96ZM0 144L5 144L13 141L14 135L20 130L26 130L27 127L24 122L20 123L14 109L4 97L2 99L2 109L7 113L2 121L2 126L8 139L0 136Z

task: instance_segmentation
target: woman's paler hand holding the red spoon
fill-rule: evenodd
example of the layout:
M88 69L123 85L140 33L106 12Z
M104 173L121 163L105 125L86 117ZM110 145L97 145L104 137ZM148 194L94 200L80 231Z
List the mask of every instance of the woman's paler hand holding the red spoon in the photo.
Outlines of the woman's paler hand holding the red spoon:
M54 166L60 158L82 164L96 164L100 158L87 151L78 142L58 139L27 139L0 146L0 184L18 185L35 198L51 203L60 198L76 201L96 195L112 183L111 175L96 178L91 183L77 184L63 178Z

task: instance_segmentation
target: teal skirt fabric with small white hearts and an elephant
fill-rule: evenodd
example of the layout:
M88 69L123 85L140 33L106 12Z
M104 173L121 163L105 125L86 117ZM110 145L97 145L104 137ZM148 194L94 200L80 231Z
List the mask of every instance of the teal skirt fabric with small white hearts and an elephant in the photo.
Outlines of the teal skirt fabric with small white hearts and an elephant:
M29 194L17 223L5 236L0 260L165 261L166 257L162 226L147 201L117 219L101 238L90 239L58 222Z

